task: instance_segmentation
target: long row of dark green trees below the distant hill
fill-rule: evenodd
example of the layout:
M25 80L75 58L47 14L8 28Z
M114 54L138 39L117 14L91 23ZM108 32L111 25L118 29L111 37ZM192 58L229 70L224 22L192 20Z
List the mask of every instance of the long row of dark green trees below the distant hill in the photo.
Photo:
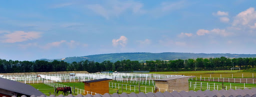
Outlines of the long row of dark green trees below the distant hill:
M59 72L59 71L88 71L89 73L101 71L194 71L194 70L228 70L232 67L249 69L256 66L256 58L197 58L187 60L169 61L131 61L122 60L116 62L80 61L67 63L54 60L12 61L0 59L0 73L23 72Z

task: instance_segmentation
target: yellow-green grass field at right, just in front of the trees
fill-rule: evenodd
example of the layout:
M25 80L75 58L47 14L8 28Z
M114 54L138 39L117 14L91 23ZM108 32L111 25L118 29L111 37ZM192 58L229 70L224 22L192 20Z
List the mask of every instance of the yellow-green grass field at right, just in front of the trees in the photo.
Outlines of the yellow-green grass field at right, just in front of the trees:
M242 72L239 70L224 70L224 71L184 71L184 72L150 72L150 74L168 74L168 75L185 75L185 76L196 76L196 77L210 77L211 78L251 78L252 73Z

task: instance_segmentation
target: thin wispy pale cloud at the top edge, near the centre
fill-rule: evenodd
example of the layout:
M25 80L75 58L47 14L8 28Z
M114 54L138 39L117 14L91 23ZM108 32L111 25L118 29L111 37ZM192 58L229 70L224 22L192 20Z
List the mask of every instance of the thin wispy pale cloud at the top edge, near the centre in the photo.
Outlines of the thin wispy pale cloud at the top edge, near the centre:
M87 8L91 9L95 13L109 19L111 16L118 17L125 11L131 11L132 13L144 13L142 10L143 4L136 1L118 1L111 0L104 4L88 4Z

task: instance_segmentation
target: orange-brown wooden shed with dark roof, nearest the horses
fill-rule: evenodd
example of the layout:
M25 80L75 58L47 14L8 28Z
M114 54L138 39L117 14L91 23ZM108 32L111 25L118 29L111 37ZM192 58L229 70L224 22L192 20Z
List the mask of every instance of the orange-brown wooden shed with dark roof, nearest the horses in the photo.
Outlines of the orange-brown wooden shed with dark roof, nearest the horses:
M108 83L112 79L98 79L98 80L91 80L85 81L84 83L84 90L97 93L100 95L104 95L105 93L109 93ZM85 92L87 94L87 92Z

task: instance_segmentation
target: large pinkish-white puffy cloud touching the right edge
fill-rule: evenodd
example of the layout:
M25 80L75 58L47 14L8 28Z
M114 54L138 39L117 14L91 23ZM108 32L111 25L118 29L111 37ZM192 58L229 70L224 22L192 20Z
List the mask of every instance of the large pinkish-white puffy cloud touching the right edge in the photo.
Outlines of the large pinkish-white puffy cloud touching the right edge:
M245 11L240 12L234 18L232 23L233 26L236 25L253 25L256 21L256 11L253 7L246 9Z

